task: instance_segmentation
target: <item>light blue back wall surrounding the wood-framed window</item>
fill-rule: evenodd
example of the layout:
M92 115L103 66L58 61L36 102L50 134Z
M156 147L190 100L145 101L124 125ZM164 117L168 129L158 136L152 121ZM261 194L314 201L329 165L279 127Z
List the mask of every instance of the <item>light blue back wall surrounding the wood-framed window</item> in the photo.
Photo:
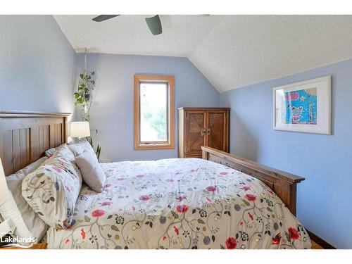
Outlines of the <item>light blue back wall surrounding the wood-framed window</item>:
M83 64L84 55L77 54L78 72ZM177 158L177 118L175 149L134 151L134 74L174 75L176 109L219 105L219 93L187 58L89 54L88 68L96 72L91 127L99 129L94 140L101 144L101 161Z

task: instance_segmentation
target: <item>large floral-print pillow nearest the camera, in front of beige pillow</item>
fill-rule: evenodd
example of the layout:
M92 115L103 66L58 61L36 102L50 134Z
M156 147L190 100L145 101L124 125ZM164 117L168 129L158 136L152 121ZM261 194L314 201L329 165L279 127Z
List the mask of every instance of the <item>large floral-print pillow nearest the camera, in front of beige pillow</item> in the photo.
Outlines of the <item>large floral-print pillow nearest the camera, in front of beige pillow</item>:
M73 210L81 187L75 156L63 144L23 179L22 196L46 224L57 230L66 229L74 223Z

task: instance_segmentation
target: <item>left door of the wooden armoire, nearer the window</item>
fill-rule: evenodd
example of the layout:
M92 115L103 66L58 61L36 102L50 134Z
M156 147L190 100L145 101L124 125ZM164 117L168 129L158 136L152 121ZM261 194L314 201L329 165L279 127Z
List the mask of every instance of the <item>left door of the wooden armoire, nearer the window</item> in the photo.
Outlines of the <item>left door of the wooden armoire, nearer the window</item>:
M201 146L206 145L206 111L187 111L184 124L184 153L201 157Z

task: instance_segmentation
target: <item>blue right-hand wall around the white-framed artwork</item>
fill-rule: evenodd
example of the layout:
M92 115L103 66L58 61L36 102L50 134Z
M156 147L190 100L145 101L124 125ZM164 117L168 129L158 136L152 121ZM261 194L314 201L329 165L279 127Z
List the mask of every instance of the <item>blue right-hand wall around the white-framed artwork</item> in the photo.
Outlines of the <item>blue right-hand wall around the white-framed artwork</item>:
M332 75L332 135L272 129L272 88ZM352 60L220 94L231 107L231 153L306 177L297 215L308 230L352 249Z

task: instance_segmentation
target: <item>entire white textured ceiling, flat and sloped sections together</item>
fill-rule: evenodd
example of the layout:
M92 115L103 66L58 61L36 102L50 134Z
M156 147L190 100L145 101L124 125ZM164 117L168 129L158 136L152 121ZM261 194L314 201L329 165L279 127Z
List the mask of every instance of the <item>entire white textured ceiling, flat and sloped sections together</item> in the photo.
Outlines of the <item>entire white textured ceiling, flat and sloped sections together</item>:
M55 15L77 52L184 56L219 92L352 58L352 15Z

